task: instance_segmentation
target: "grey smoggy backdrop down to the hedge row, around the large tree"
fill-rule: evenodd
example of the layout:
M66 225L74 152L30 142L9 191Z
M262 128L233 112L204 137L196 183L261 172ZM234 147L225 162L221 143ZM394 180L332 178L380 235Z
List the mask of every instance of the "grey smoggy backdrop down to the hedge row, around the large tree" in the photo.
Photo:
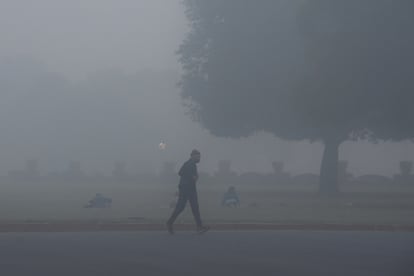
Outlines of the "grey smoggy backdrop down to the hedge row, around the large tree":
M155 170L181 163L193 147L204 171L231 159L239 172L270 171L273 160L293 173L317 172L318 144L214 138L185 116L176 87L175 51L187 31L180 2L0 1L0 172L33 158L43 171L70 160L91 172L108 173L115 161ZM346 143L340 159L358 175L390 175L412 156L411 143Z

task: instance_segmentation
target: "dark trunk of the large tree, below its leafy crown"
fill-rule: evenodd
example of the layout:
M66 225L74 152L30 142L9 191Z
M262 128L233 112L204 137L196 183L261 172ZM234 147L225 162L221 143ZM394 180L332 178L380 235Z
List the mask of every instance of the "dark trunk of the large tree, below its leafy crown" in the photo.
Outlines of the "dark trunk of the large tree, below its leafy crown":
M336 139L325 140L325 150L322 157L319 193L333 195L338 189L338 149L340 142Z

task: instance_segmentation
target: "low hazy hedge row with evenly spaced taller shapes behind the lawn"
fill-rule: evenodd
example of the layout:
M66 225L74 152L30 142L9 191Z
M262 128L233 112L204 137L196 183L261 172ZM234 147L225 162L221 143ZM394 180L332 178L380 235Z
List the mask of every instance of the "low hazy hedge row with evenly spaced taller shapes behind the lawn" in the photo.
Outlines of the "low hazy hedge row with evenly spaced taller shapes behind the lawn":
M200 172L200 185L318 185L319 175L303 173L292 175L284 169L281 161L272 162L273 171L270 173L245 172L238 174L231 168L230 160L221 160L217 170L213 174ZM71 161L66 170L42 174L37 160L26 161L22 170L11 170L6 178L16 182L131 182L137 184L165 183L176 184L178 182L177 164L175 162L164 162L160 173L131 173L127 170L125 162L116 162L109 175L88 174L79 161ZM338 183L347 184L414 184L413 161L401 161L399 173L393 177L366 174L359 177L354 176L348 170L347 161L338 163Z

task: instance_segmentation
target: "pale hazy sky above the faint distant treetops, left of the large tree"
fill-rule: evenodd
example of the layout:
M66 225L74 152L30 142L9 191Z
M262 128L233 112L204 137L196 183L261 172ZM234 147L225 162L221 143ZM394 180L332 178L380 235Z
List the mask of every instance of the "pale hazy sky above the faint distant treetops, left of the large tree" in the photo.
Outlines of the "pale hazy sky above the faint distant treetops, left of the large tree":
M0 56L30 55L79 79L102 68L176 69L179 0L2 0Z

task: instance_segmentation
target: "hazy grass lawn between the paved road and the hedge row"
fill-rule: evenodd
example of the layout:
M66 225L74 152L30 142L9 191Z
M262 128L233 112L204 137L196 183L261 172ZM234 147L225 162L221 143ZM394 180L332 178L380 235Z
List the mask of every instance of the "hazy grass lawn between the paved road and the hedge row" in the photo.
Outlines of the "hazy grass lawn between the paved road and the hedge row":
M177 186L137 183L1 183L0 223L93 220L164 222ZM203 219L208 223L339 223L414 225L414 185L342 187L339 196L319 197L312 185L236 185L239 208L220 206L228 187L199 185ZM95 193L111 197L107 209L85 209ZM179 222L191 223L187 208Z

